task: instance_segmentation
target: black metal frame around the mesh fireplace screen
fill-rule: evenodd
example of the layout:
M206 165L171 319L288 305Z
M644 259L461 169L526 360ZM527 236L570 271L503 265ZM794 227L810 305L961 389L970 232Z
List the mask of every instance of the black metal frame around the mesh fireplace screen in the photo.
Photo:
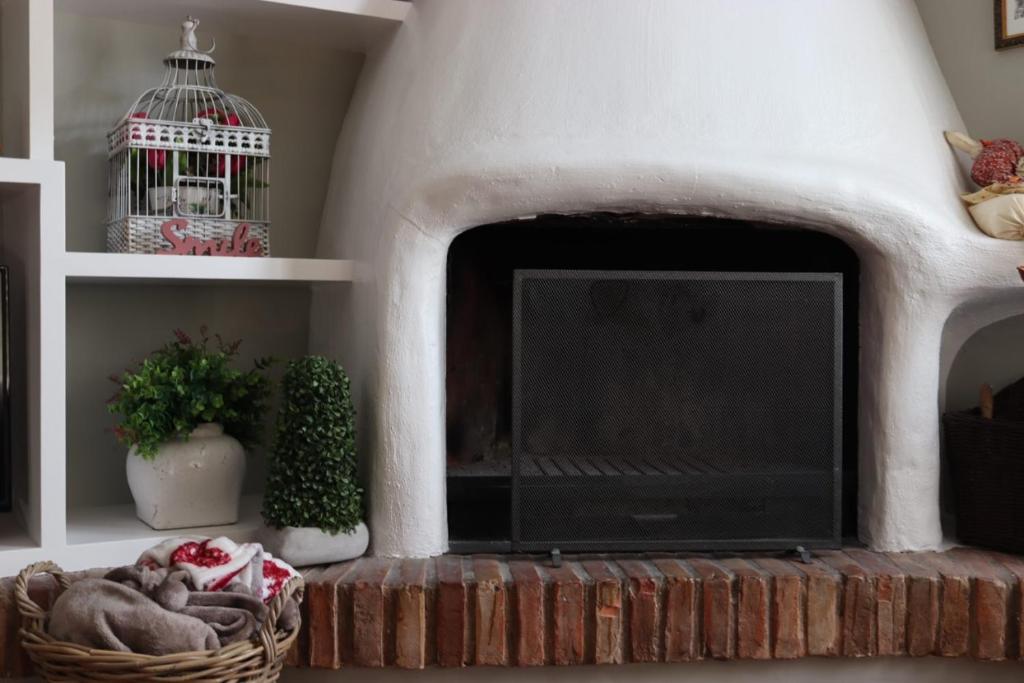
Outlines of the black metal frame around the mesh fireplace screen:
M630 279L630 280L672 280L672 281L768 281L768 282L820 282L831 285L833 329L831 329L831 519L830 533L825 536L805 536L793 538L729 538L699 539L580 539L580 538L524 538L523 506L524 479L521 463L530 457L526 453L522 437L522 373L520 372L522 335L522 285L530 279ZM792 549L797 546L810 548L838 548L842 545L842 492L843 492L843 450L844 450L844 273L814 271L739 271L739 270L634 270L634 269L582 269L582 268L516 268L513 284L513 399L512 399L512 457L511 457L511 528L510 542L513 552L547 552L554 548L565 551L636 551L636 550L771 550ZM615 486L623 493L641 493L653 481L652 474L638 476L617 476ZM673 477L673 482L699 481L699 477ZM556 476L555 479L558 477ZM578 477L579 478L579 477ZM589 477L588 477L589 478ZM594 477L598 479L599 477ZM600 477L604 479L605 477ZM608 477L610 479L612 477ZM540 481L541 477L534 477ZM605 484L606 485L606 484ZM664 484L663 484L664 485ZM554 484L557 488L557 484ZM557 496L557 493L554 493Z

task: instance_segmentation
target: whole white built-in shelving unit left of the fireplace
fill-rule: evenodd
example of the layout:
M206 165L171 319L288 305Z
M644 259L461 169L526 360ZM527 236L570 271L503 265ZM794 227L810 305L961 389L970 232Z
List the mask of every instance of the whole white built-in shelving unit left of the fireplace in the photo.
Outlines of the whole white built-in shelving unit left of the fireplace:
M0 0L7 110L0 154L9 155L0 156L0 262L11 268L12 347L20 351L12 383L22 391L12 403L15 497L13 510L0 514L0 575L40 559L68 569L128 562L180 532L248 540L260 525L258 497L245 499L238 524L182 531L148 528L131 505L69 507L70 446L80 450L69 443L67 420L72 288L347 287L358 276L357 264L347 260L67 251L66 169L54 159L53 143L55 9L112 23L162 25L172 32L184 14L194 13L243 36L301 36L331 49L365 52L386 41L411 5L401 0ZM8 102L22 110L11 115Z

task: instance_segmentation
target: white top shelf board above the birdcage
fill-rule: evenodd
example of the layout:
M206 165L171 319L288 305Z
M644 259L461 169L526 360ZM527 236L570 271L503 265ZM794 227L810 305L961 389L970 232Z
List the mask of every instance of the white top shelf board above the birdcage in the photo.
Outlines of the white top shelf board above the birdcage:
M273 36L366 52L404 19L402 0L57 0L58 11L119 22L166 26L168 51L181 20L203 22L201 39L220 32Z

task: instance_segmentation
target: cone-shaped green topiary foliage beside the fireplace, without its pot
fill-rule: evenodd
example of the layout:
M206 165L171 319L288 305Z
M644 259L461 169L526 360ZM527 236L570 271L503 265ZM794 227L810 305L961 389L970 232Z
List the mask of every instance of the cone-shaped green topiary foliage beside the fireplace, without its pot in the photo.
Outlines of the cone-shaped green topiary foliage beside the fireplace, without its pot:
M351 531L362 520L348 376L322 356L291 361L263 498L267 525Z

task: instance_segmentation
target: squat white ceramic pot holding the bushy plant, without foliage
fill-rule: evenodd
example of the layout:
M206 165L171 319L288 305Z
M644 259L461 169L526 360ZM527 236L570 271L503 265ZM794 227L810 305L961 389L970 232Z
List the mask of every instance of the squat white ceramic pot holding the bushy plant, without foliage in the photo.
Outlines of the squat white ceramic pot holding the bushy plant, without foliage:
M187 439L165 441L153 460L128 452L128 487L135 514L156 529L239 521L246 451L218 424L202 424Z

